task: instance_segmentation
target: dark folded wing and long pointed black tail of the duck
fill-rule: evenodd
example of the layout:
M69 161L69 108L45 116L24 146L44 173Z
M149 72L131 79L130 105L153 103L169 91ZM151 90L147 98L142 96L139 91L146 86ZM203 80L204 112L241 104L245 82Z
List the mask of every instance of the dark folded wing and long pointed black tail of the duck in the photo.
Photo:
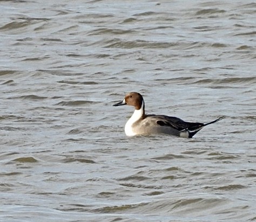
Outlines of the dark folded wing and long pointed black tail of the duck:
M150 115L156 117L156 123L160 126L166 126L166 127L172 127L174 129L177 129L180 132L187 131L188 137L194 136L201 128L212 124L214 122L217 122L219 120L222 120L224 116L221 116L220 118L208 122L208 123L200 123L200 122L186 122L178 117L174 116L165 116L165 115Z

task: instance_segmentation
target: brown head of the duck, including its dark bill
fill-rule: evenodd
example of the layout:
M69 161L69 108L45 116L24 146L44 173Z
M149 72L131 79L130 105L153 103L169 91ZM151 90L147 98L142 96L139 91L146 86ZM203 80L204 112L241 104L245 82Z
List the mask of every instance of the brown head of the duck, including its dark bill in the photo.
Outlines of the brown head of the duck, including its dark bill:
M113 106L122 106L129 105L134 106L135 109L139 110L142 106L144 106L144 101L142 95L136 92L131 92L125 95L123 101L114 104Z

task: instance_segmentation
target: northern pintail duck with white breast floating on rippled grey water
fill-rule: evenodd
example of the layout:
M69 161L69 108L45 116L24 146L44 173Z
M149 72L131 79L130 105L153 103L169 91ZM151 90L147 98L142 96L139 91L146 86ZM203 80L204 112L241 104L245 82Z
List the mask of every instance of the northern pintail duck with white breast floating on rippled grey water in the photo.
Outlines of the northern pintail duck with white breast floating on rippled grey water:
M129 105L135 110L130 119L125 124L125 134L134 136L138 134L158 134L165 133L174 136L192 138L200 129L224 118L221 116L217 120L208 123L185 122L177 117L166 115L146 115L145 103L142 95L131 92L125 95L123 101L113 106Z

